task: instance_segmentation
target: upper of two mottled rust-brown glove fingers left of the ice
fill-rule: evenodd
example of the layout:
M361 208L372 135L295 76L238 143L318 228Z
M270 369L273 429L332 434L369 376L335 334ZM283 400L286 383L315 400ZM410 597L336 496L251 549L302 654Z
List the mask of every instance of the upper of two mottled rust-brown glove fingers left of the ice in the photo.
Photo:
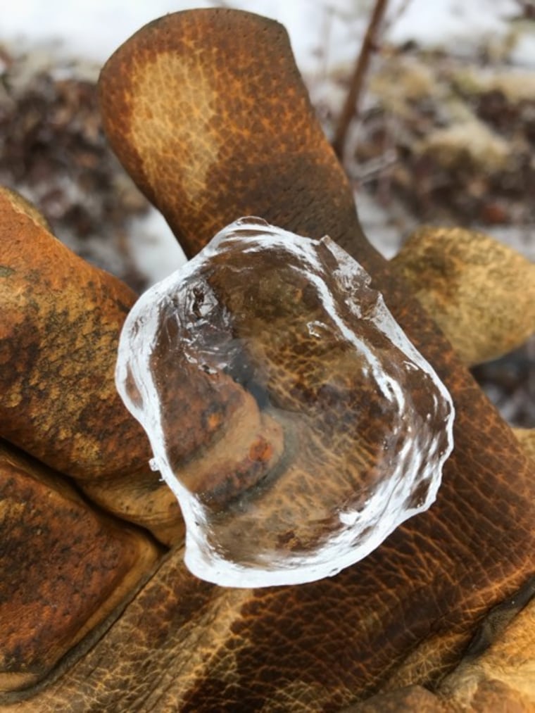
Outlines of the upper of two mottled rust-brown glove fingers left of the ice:
M0 436L87 483L108 510L180 537L175 498L148 468L148 439L115 388L118 336L136 295L38 217L0 192Z

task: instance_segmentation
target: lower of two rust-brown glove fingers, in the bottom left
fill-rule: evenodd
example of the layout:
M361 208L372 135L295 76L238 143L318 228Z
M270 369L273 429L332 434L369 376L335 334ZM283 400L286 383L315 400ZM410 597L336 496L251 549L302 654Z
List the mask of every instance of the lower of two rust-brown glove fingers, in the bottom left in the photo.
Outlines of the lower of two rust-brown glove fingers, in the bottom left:
M0 442L0 691L48 674L132 596L151 539L98 515L61 476Z

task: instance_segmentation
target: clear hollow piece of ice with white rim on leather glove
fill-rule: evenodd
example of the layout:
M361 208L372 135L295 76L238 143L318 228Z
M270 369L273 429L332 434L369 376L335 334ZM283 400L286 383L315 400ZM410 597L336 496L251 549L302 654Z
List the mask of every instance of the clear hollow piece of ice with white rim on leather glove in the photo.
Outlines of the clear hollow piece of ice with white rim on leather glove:
M426 510L447 389L329 237L242 218L143 294L116 381L220 585L334 575Z

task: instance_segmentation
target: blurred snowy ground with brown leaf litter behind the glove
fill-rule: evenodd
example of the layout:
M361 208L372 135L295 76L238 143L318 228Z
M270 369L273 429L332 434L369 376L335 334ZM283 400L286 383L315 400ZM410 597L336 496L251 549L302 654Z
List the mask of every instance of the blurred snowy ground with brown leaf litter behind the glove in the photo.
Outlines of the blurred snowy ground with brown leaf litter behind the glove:
M57 237L138 292L183 261L103 138L98 71L146 22L225 6L285 24L334 140L376 0L196 3L0 0L0 183ZM360 219L386 256L423 223L460 225L535 258L535 2L389 0L343 136ZM535 341L474 375L535 426Z

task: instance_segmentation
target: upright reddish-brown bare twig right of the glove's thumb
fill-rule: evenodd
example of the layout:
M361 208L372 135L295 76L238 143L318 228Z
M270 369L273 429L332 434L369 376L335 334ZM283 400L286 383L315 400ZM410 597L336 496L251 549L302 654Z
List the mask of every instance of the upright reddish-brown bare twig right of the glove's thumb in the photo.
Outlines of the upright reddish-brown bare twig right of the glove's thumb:
M353 76L351 78L350 89L347 92L345 104L342 108L340 119L338 120L335 140L332 142L336 155L340 159L342 159L344 155L347 130L350 128L352 119L357 116L358 113L358 103L360 93L362 91L362 83L370 63L372 51L377 46L377 34L379 32L379 27L384 13L387 9L387 4L388 0L376 0L372 16L370 18L370 23L368 24L368 29L366 31L364 41L362 42L362 48L360 49L360 54L357 57L357 62L355 63L355 71L353 72Z

